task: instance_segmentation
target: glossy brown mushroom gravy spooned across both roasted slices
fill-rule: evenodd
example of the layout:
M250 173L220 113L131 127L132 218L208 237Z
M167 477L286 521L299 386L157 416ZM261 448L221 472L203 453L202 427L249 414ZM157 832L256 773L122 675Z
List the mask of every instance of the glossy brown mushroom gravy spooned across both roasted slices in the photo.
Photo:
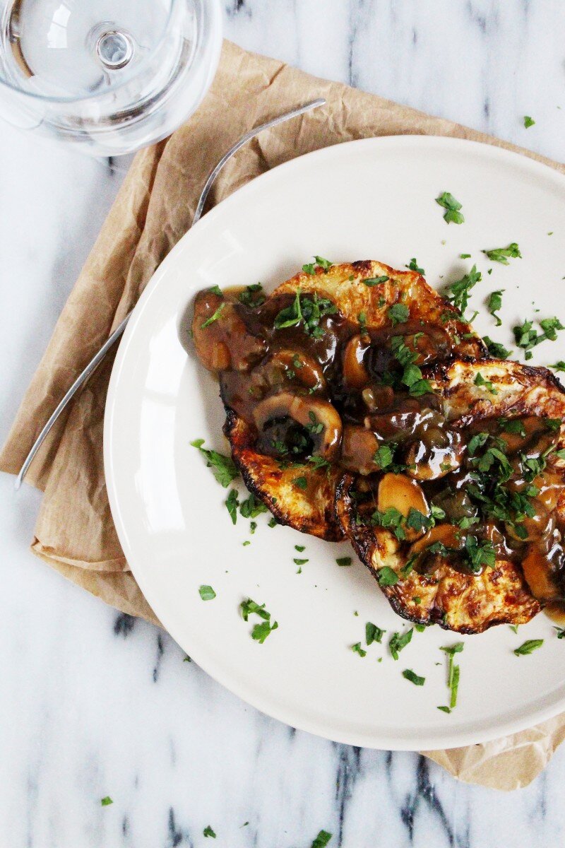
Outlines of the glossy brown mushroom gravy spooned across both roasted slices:
M535 599L559 611L564 481L551 456L561 420L454 423L433 384L433 366L453 356L449 335L389 314L375 330L363 313L348 321L300 289L266 300L258 287L208 289L193 338L224 404L256 432L258 454L356 474L355 520L393 533L406 568L428 574L448 561L479 575L512 561Z

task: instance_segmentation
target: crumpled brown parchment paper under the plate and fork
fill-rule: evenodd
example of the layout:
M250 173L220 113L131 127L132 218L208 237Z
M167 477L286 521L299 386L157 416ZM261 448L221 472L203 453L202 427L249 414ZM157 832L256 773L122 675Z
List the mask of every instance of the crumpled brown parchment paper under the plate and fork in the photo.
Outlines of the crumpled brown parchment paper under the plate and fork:
M70 383L136 303L191 226L210 170L247 130L313 98L321 109L242 148L213 187L211 204L287 159L356 138L420 134L507 142L430 117L224 43L208 96L185 126L136 155L80 273L0 454L16 473ZM565 166L522 150L565 173ZM69 404L27 476L44 491L31 550L58 572L133 616L159 623L132 577L112 522L102 465L102 421L113 357ZM485 745L424 752L461 780L516 789L540 773L565 734L565 715Z

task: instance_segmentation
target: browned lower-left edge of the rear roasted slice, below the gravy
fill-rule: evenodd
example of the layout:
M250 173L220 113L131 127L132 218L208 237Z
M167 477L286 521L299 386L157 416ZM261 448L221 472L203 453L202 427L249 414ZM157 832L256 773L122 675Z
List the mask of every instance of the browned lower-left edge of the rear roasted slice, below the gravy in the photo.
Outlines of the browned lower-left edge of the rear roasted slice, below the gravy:
M226 413L224 433L249 491L269 507L280 524L329 542L340 541L343 533L334 512L339 467L316 469L309 463L294 466L258 454L254 449L256 432L232 410Z

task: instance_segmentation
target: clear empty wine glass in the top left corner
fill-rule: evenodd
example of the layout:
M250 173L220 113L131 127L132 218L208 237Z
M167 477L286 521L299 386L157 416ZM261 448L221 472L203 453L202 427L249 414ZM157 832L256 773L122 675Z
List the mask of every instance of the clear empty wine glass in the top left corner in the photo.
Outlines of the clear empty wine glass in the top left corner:
M219 0L0 0L0 116L95 156L166 137L216 71Z

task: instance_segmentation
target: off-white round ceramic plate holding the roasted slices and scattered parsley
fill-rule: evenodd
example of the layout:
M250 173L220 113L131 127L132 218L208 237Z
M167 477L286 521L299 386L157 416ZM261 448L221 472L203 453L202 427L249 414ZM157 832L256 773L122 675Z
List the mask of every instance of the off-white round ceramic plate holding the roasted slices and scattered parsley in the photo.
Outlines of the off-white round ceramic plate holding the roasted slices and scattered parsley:
M449 191L463 226L435 204ZM553 235L549 235L553 233ZM108 494L131 570L163 625L213 678L253 706L330 739L385 749L467 745L509 734L565 709L565 641L545 616L464 637L457 709L446 715L446 656L459 641L438 627L414 633L398 661L386 642L409 625L390 609L368 571L338 567L348 544L285 527L234 527L226 490L191 447L226 450L216 382L188 338L191 300L202 287L291 276L312 254L335 262L411 257L440 286L473 262L484 280L471 305L505 289L504 326L482 310L479 332L512 346L524 317L565 319L565 179L499 148L433 137L341 144L295 159L235 192L169 254L137 304L119 347L104 431ZM481 248L518 242L523 259L489 262ZM472 254L472 259L459 259ZM486 271L492 268L491 276ZM532 303L534 301L534 304ZM539 313L534 310L540 309ZM532 364L565 359L565 332L535 350ZM243 546L249 539L251 544ZM306 545L297 553L295 544ZM307 558L297 574L294 557ZM217 593L202 601L198 587ZM264 644L250 638L241 600L266 603L279 622ZM358 613L358 615L357 615ZM365 622L387 633L362 658ZM514 656L525 639L541 650ZM381 662L377 660L383 657ZM410 668L426 678L416 687Z

